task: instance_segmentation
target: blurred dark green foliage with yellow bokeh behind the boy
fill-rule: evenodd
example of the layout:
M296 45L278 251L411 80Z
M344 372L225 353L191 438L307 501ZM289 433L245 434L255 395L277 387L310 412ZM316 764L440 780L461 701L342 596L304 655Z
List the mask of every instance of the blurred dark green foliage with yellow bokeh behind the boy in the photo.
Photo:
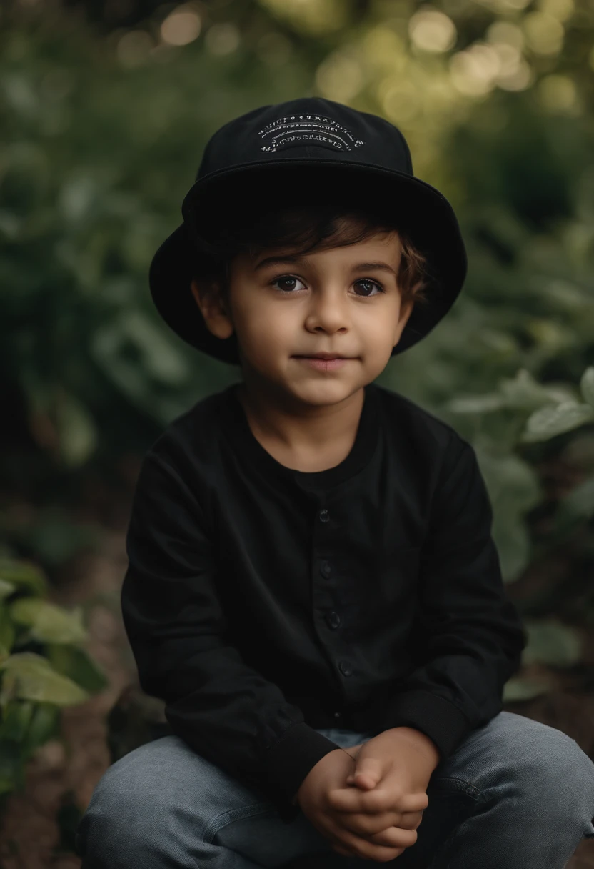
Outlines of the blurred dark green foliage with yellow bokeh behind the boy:
M415 174L459 216L464 292L380 383L472 441L505 580L529 628L525 665L561 668L591 687L586 0L5 3L3 555L57 582L70 559L100 545L105 524L125 518L137 462L162 428L237 379L237 368L189 348L160 320L148 266L181 222L214 130L306 95L396 123ZM22 634L17 651L31 652L30 642ZM523 675L506 696L549 685L546 673Z

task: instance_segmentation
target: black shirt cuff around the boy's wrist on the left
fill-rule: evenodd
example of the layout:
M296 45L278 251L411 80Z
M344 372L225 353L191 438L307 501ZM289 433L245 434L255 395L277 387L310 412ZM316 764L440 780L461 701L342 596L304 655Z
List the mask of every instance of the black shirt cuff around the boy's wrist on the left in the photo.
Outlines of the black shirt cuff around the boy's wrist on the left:
M267 753L264 774L283 820L292 820L300 812L299 806L293 806L293 799L301 782L318 760L336 748L340 746L305 722L300 722L288 727L281 740Z

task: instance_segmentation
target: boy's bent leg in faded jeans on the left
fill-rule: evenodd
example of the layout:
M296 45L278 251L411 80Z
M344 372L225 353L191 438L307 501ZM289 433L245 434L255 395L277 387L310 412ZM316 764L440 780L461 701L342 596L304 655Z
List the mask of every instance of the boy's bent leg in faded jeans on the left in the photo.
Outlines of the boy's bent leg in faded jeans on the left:
M109 766L76 831L82 866L143 866L142 854L146 865L224 866L230 850L237 866L277 867L330 847L304 815L285 824L265 794L175 735Z

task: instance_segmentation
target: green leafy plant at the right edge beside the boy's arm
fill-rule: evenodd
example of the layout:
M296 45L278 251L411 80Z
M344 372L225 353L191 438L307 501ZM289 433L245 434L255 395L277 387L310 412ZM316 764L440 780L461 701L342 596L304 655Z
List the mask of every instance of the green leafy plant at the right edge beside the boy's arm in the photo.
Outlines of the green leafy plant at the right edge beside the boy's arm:
M514 378L499 381L492 392L459 396L446 407L452 414L481 420L475 446L496 514L494 536L505 580L512 583L527 570L543 569L547 559L560 551L591 564L594 436L588 427L594 424L594 368L586 368L578 388L564 382L542 385L520 369ZM579 440L570 435L578 429ZM551 456L553 461L573 460L578 465L578 480L562 487L557 497L549 499L554 506L543 511L538 468L550 463ZM545 516L539 533L535 513ZM547 693L554 684L553 671L573 667L581 659L583 628L594 621L594 596L584 594L578 581L572 586L571 561L567 573L570 576L558 589L547 587L539 600L532 598L521 607L529 616L525 618L529 641L522 663L541 669L537 675L509 680L504 700L527 700ZM572 594L582 594L573 612ZM574 624L564 624L559 615Z

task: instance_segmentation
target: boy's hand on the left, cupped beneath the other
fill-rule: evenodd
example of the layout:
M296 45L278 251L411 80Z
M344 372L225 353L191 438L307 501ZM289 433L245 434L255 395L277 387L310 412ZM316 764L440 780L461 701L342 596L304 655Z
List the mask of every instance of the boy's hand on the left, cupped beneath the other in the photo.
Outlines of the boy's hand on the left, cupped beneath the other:
M359 790L347 786L347 777L352 772L353 759L346 750L337 748L325 754L297 791L301 811L333 843L334 851L386 863L416 842L420 812L428 805L426 793L403 797L398 811L391 807L377 810L365 806L361 810L347 808L346 811L333 807L329 799L331 793L339 793L342 788Z

